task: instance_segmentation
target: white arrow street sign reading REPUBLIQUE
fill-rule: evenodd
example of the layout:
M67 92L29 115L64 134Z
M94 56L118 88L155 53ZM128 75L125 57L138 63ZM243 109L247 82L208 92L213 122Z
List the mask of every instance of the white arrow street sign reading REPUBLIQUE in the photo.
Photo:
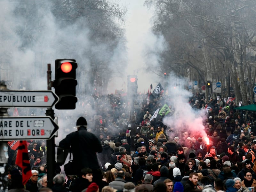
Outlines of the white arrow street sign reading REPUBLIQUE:
M0 107L52 107L58 100L52 91L0 91Z

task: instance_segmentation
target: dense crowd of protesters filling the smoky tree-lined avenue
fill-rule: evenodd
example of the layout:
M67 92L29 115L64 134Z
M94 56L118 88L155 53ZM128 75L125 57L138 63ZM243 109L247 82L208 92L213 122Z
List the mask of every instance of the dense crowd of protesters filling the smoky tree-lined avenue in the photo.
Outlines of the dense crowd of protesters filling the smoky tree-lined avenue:
M207 137L194 135L192 130L170 135L172 127L164 124L163 119L175 111L151 119L156 109L168 104L169 98L165 95L147 98L138 96L132 115L128 114L129 106L122 97L95 96L87 100L95 113L79 117L78 131L68 133L60 141L60 148L70 149L73 162L62 171L56 166L51 189L47 188L45 142L28 141L32 176L25 189L30 192L255 190L254 113L238 111L235 103L224 99L206 102L203 95L196 94L188 102L191 108L208 107L203 122ZM13 180L20 174L15 153L11 151L8 162L10 191L17 188Z

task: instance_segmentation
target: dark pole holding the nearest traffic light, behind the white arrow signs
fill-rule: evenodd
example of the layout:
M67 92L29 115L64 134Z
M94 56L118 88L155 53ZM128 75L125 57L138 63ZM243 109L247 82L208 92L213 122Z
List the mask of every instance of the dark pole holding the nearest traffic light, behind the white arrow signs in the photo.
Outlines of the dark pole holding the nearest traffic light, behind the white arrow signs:
M47 64L47 90L52 90L52 71L51 71L51 64ZM47 108L46 116L51 116L54 119L54 111L52 108ZM47 146L47 187L52 188L53 185L53 177L54 177L54 167L55 164L55 139L54 135L51 139L46 140Z

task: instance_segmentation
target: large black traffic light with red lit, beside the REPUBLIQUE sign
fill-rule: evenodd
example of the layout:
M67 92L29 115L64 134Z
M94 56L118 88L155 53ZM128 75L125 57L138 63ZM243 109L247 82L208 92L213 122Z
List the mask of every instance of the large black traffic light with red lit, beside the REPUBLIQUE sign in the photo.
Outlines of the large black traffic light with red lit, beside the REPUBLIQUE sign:
M55 104L56 109L75 109L76 108L76 68L77 63L74 59L55 60L55 81L53 87L55 93L60 98Z

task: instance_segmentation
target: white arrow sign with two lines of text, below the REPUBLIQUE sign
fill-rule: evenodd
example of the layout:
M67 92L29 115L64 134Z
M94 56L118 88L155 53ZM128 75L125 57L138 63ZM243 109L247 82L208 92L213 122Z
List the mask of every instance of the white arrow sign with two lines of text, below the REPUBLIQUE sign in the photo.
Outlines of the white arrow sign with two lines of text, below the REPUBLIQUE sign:
M0 140L50 139L58 129L50 116L0 117Z

